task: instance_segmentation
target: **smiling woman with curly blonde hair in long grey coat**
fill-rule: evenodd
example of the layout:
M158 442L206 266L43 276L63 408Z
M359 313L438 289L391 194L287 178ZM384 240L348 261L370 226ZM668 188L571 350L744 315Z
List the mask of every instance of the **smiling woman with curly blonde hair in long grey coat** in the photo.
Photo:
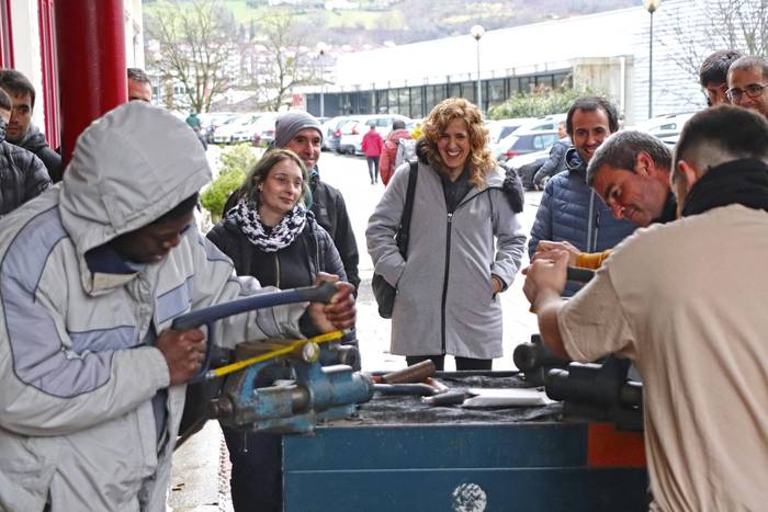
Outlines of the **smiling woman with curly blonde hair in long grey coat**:
M486 148L479 110L463 99L438 104L418 145L418 180L407 261L395 244L409 164L393 177L365 238L376 273L397 287L392 353L408 364L445 354L458 369L490 369L501 356L501 305L520 266L526 236L504 172ZM513 206L515 205L515 206Z

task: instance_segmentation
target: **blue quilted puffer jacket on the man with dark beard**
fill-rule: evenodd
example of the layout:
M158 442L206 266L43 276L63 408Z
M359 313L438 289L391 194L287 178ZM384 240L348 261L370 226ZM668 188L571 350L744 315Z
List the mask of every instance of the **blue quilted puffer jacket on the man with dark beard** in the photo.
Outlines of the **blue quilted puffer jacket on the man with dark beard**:
M608 205L587 186L587 164L575 148L568 149L567 170L552 178L531 229L528 253L533 255L540 240L568 241L583 252L610 249L626 238L636 226L629 220L617 220ZM578 289L573 283L564 296Z

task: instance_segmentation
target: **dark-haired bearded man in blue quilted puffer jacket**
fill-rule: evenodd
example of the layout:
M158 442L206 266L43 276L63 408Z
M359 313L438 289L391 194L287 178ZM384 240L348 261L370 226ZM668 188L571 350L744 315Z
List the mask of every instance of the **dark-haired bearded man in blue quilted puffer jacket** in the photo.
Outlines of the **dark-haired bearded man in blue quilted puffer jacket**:
M581 252L598 252L614 247L635 229L629 220L613 218L586 181L595 151L619 129L615 106L602 98L581 96L568 110L565 124L574 147L565 155L567 169L544 190L528 242L531 257L541 240L567 241ZM577 289L578 285L569 283L563 295Z

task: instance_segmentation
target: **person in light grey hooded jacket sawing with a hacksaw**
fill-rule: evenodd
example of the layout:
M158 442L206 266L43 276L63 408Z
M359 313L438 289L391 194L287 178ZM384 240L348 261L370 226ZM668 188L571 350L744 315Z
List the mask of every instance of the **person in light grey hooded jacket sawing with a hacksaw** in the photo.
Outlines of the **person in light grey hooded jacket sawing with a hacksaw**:
M0 510L166 510L184 383L205 351L200 330L171 322L262 292L194 226L210 179L183 122L132 102L79 137L55 193L4 221ZM329 305L217 322L216 340L347 328L352 286L337 288Z

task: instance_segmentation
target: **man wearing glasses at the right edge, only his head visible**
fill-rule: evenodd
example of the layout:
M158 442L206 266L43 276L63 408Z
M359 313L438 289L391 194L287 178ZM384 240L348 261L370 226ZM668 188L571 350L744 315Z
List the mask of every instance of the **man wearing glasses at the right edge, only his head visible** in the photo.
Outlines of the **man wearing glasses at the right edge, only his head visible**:
M750 109L768 117L768 60L742 57L729 68L729 90L734 105Z

